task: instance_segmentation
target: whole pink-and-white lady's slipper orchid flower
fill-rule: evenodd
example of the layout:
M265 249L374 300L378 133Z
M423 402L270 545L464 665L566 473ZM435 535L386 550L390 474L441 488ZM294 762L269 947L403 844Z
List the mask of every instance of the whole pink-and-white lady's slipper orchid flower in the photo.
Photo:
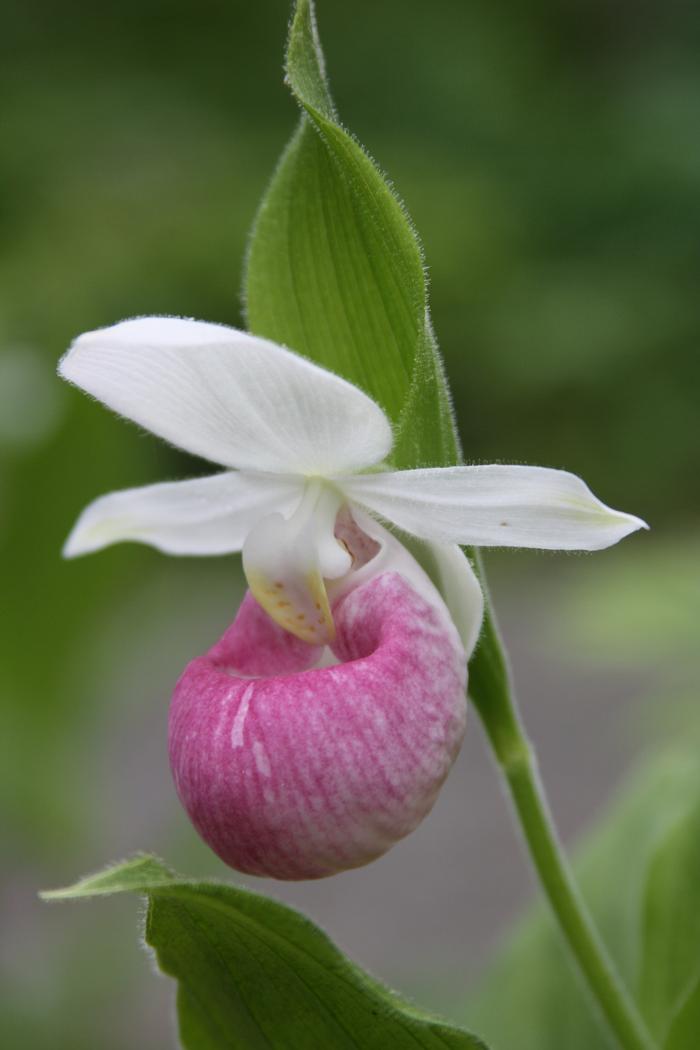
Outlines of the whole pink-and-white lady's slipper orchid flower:
M464 733L482 616L457 544L593 550L643 526L561 470L383 469L393 435L379 405L222 326L123 321L77 339L59 371L227 467L102 497L65 553L123 540L242 551L251 595L185 671L170 717L181 799L241 870L313 878L363 864L432 805ZM428 542L451 613L373 516Z

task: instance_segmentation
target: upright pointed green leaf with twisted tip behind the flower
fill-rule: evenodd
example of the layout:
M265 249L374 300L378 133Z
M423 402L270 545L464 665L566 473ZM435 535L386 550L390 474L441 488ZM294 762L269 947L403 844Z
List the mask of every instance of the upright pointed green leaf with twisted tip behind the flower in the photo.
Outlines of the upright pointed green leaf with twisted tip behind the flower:
M251 236L249 328L374 397L396 428L395 465L453 463L421 247L399 197L338 122L311 0L295 8L287 82L302 117Z

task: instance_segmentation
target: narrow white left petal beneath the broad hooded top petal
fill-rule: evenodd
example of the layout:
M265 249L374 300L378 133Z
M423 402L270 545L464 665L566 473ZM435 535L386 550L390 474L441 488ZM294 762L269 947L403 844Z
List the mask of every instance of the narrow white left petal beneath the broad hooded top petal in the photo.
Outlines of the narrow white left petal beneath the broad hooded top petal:
M292 479L235 471L127 488L85 508L63 553L73 558L131 540L168 554L227 554L240 550L271 510L291 511L300 495Z

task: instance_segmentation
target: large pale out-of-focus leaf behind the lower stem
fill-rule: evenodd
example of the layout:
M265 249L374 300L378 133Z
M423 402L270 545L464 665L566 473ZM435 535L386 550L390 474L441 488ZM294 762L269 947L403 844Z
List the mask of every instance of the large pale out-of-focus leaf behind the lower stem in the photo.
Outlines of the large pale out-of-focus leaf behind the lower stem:
M697 756L673 751L629 779L576 850L578 883L629 987L639 973L649 865L659 841L699 799ZM694 918L688 921L695 925ZM543 905L530 909L518 924L464 1010L470 1024L503 1050L615 1047Z

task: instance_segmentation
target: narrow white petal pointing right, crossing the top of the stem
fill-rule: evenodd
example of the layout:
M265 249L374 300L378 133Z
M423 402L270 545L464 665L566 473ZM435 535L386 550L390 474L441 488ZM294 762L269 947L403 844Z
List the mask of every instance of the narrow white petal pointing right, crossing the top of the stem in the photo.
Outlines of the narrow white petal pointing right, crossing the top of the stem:
M343 490L424 540L475 547L599 550L644 522L612 510L573 474L452 466L338 479Z

